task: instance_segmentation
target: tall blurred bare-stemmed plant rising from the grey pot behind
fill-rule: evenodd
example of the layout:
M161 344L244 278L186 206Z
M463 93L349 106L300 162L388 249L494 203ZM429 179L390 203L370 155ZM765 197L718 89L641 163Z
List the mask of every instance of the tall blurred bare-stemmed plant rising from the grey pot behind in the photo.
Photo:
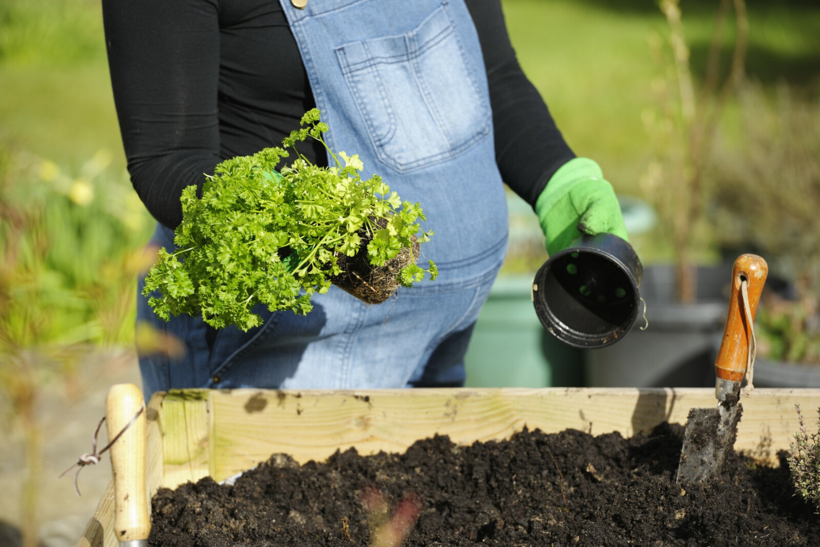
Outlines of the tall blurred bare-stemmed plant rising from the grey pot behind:
M744 0L721 0L702 82L697 85L690 66L690 47L684 34L679 0L661 0L668 34L649 34L649 49L662 71L652 81L657 107L641 118L653 148L653 159L640 178L641 189L654 204L661 229L672 243L676 262L677 298L695 301L697 262L708 253L710 235L704 218L708 203L708 168L712 144L722 113L744 77L749 21ZM727 13L734 12L734 48L727 75L721 74L721 52ZM722 81L721 81L722 79ZM706 251L706 253L704 253Z

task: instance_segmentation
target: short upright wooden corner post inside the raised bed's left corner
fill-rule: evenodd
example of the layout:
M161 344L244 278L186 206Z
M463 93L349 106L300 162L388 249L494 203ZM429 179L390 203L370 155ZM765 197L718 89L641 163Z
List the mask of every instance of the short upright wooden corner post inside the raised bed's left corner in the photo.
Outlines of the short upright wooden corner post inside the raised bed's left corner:
M171 390L162 399L159 413L164 462L161 486L174 488L210 474L212 393L210 390Z

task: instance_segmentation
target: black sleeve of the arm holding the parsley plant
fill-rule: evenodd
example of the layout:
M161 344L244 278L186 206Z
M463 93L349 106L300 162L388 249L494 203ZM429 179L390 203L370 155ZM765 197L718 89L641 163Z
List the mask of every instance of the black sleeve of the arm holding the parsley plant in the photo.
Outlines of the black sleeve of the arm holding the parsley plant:
M180 194L220 162L217 0L103 0L108 64L128 170L174 228Z

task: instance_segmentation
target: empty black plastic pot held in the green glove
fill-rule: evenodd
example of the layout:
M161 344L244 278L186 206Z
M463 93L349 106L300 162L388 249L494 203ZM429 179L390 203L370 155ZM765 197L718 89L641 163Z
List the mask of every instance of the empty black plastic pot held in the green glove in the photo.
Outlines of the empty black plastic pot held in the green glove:
M625 240L585 235L535 274L535 312L558 340L576 348L603 348L621 340L635 323L642 276L638 255Z

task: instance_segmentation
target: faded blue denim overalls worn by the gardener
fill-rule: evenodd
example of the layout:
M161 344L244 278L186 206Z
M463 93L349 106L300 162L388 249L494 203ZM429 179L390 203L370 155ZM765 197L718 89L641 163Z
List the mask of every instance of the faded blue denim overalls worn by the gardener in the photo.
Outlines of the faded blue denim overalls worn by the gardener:
M335 151L358 153L420 202L434 230L421 246L439 278L400 288L380 305L335 286L307 316L254 310L264 324L219 331L201 317L165 322L138 298L138 319L185 342L180 361L140 357L146 396L182 387L354 389L457 386L472 326L503 262L507 207L484 62L463 0L280 0L330 125ZM295 128L294 128L295 129ZM157 228L152 244L174 247ZM141 289L141 287L140 287Z

